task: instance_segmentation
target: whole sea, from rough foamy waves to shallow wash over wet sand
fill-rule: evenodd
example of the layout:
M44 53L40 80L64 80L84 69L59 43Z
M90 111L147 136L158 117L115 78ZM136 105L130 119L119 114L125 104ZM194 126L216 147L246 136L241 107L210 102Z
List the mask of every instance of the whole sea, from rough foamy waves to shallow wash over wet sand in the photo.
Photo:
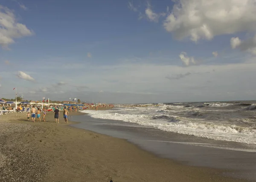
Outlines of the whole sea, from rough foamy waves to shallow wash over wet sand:
M73 127L125 139L185 165L256 181L256 101L116 104L83 110Z

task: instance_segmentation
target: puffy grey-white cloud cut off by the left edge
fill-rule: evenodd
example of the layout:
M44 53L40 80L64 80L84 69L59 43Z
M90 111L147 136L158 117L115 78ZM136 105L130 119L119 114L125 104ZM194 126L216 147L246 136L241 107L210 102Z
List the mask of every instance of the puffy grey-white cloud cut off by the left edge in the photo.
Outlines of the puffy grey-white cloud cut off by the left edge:
M18 23L15 14L6 7L0 5L0 45L8 49L9 44L14 43L15 38L32 35L26 25Z

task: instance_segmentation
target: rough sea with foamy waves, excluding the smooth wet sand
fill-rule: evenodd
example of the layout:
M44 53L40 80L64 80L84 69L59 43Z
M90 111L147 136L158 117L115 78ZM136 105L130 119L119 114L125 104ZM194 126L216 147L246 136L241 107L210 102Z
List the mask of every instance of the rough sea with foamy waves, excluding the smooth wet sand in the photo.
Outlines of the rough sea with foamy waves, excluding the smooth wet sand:
M237 142L239 147L236 150L256 152L256 101L116 104L112 110L83 112L93 118L119 120L216 141Z

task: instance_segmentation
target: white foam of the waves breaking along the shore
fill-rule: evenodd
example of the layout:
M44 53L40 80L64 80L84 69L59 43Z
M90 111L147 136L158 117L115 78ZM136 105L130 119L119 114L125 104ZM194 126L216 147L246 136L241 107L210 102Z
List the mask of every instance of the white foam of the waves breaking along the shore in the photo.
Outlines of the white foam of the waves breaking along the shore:
M184 112L183 110L187 112L191 109L174 108L173 110L166 110L169 108L169 105L162 105L160 107L122 108L119 110L97 112L94 110L84 110L82 112L88 113L93 118L120 120L168 132L215 140L256 144L255 127L204 121L203 118L178 117L173 115L175 113L173 110L178 109L182 113Z

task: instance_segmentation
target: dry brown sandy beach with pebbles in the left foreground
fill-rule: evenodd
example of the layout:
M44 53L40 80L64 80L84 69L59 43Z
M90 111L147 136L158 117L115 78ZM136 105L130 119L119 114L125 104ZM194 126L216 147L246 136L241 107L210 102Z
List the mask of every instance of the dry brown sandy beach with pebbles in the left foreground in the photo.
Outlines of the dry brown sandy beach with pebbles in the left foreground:
M70 113L72 116L82 113ZM0 181L5 182L245 182L223 170L182 165L124 139L47 122L26 113L0 116Z

